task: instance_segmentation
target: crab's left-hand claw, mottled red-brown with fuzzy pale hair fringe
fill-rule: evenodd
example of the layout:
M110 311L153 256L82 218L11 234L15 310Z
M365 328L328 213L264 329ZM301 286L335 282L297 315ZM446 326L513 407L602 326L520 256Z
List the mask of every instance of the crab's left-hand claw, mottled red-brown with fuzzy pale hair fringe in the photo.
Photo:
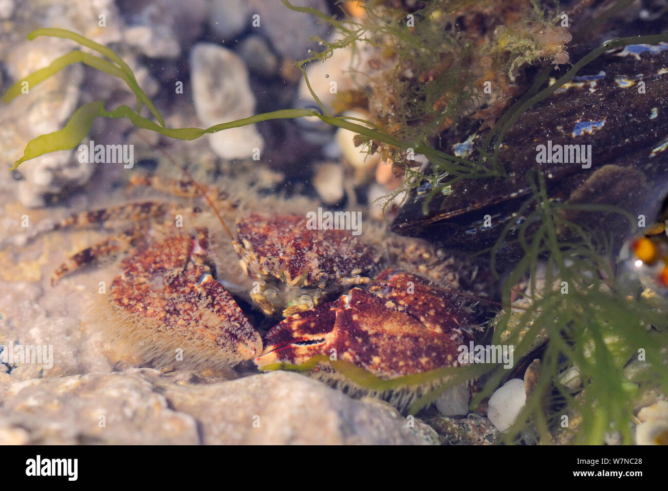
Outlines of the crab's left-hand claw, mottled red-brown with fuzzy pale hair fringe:
M117 337L158 364L178 360L178 348L185 364L196 366L237 363L262 351L257 331L212 279L206 245L204 232L164 238L122 261L112 283Z

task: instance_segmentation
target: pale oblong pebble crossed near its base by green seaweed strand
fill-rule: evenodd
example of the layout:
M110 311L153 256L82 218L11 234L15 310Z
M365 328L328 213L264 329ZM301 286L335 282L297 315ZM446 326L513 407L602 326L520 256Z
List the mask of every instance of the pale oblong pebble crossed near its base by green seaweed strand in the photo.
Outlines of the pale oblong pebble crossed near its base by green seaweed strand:
M198 43L190 54L190 71L195 112L204 127L255 114L246 65L230 49ZM264 147L255 125L208 135L208 141L216 155L225 159L249 158Z

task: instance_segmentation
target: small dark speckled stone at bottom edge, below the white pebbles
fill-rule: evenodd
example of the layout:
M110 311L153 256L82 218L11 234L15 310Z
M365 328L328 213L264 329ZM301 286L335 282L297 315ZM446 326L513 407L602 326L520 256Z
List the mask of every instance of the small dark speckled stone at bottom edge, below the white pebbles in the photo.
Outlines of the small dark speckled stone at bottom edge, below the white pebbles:
M475 413L466 418L437 416L428 424L438 432L443 445L492 445L501 436L490 420Z

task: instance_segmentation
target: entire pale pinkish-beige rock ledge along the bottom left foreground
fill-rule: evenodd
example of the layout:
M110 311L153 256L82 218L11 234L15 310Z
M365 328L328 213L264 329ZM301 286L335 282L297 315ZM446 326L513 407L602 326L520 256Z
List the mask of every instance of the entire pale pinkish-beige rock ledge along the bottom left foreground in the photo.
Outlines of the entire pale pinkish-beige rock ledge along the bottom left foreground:
M0 442L438 444L438 435L387 403L297 373L190 385L128 369L13 383L0 406Z

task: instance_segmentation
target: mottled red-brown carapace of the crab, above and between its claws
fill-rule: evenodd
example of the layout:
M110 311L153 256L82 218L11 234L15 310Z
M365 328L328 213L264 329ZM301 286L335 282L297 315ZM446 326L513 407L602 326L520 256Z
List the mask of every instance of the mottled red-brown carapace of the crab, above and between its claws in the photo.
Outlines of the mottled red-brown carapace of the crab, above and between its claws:
M290 286L341 285L373 268L373 251L349 230L311 230L305 216L251 214L236 224L248 274Z

